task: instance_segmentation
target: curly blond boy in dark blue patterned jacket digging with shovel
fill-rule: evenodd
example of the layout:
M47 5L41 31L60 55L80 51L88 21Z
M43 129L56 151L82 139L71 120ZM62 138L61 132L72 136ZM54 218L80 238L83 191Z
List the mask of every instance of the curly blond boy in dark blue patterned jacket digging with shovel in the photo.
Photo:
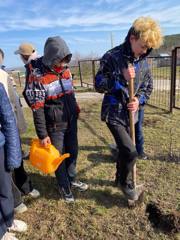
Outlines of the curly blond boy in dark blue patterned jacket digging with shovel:
M135 188L129 180L138 152L130 138L129 111L138 121L139 106L149 98L147 86L151 73L146 57L153 48L159 48L163 37L159 25L150 17L134 21L125 41L102 57L95 78L95 88L105 93L101 119L106 122L118 147L116 181L127 199L137 200L142 189ZM135 66L138 66L138 68ZM135 78L134 97L129 102L128 82Z

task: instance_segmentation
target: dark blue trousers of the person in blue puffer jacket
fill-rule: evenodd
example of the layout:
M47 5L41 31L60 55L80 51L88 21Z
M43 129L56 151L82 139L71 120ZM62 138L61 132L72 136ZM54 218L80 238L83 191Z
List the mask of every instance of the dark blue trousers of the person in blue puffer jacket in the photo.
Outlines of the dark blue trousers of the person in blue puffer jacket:
M0 148L0 239L12 225L14 201L11 187L11 173L5 169L4 148Z

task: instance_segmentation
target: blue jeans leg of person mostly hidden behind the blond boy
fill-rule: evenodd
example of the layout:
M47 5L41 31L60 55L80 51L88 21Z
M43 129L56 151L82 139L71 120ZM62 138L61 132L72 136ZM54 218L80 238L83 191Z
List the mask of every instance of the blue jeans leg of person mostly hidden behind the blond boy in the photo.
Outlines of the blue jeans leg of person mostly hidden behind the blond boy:
M144 152L143 121L144 108L140 108L138 111L138 122L135 124L136 150L139 155Z

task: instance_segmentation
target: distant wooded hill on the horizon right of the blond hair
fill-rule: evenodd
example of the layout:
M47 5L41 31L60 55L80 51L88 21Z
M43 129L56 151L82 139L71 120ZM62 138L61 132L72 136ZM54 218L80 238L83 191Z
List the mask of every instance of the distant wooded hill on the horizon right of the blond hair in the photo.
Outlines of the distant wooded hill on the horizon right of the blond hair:
M171 55L171 51L174 47L180 47L180 34L165 36L163 46L158 50L154 50L153 55L158 55L159 53L168 53Z

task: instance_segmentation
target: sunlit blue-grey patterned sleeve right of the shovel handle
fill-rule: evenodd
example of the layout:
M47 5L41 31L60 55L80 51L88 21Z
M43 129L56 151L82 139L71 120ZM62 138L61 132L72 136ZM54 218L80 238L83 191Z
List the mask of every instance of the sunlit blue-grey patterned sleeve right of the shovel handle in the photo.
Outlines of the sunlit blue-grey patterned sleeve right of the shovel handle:
M153 79L149 68L147 68L144 79L136 93L136 97L139 99L140 105L145 105L150 98L153 91Z

